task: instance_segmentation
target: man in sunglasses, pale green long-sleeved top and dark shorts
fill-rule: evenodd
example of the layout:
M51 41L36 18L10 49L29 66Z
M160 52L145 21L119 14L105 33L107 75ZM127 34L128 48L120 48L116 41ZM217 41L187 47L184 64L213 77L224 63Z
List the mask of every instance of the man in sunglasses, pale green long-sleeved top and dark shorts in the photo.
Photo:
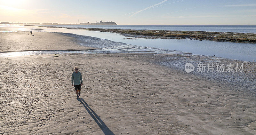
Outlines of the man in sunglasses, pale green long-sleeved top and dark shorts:
M81 81L81 83L80 83L80 81ZM72 86L75 87L76 95L77 95L76 99L78 99L80 96L81 86L83 85L82 74L80 72L78 72L78 67L75 67L75 72L72 74L71 84L72 84Z

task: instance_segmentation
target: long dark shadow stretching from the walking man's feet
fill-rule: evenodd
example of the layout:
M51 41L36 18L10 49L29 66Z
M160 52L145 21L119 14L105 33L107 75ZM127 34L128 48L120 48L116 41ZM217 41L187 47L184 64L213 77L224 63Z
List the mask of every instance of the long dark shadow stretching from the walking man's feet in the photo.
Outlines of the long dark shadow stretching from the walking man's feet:
M83 98L77 99L80 101L84 108L87 110L87 112L92 116L94 121L99 125L100 129L103 131L105 135L115 135L108 127L107 125L100 119L100 117L91 109L91 107L84 101Z

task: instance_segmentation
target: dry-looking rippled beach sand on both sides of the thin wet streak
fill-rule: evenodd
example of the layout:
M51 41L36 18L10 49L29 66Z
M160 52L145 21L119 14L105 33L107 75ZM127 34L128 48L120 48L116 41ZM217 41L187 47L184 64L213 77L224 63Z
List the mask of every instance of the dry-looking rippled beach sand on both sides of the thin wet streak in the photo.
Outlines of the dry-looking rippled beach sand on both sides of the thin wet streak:
M27 33L1 33L1 52L93 49L56 33ZM256 134L255 95L157 64L163 57L1 57L0 134ZM75 66L80 99L71 86Z

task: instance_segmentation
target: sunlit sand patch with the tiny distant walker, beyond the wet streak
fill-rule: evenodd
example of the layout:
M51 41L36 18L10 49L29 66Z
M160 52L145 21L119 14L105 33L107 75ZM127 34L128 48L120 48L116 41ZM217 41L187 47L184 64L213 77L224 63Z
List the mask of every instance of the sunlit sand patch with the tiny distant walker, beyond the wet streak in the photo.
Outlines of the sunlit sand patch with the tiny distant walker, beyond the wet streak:
M75 39L50 32L1 32L0 52L24 50L89 50L92 47L81 46Z

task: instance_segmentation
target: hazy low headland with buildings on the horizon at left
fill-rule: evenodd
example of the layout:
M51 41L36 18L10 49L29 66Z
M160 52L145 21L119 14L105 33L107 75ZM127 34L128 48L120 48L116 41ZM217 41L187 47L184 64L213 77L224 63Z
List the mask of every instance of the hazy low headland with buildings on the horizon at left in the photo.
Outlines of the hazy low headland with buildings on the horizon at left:
M100 22L96 22L96 23L9 23L9 22L1 22L0 24L25 24L25 25L117 25L115 22L112 21L106 21L106 22L102 22L102 20L100 20Z

